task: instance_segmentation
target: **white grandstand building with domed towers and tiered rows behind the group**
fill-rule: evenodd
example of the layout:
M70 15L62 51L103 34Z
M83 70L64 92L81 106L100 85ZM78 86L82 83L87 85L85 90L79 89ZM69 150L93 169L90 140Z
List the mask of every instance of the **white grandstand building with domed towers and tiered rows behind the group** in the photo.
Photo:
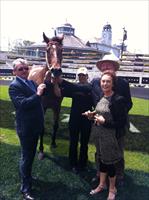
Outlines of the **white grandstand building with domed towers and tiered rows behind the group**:
M76 71L79 67L86 67L89 78L100 76L96 68L96 62L111 51L120 57L120 47L112 46L112 28L106 24L102 30L101 38L94 38L84 43L75 35L75 29L66 23L55 29L55 35L64 34L63 40L63 77L76 80ZM33 45L21 47L15 54L8 53L5 64L1 63L2 75L10 75L11 63L18 57L26 58L31 65L45 64L45 43L34 43ZM126 78L130 83L136 85L149 85L149 55L124 53L121 58L121 66L117 72L119 76ZM2 59L1 59L2 62ZM3 65L3 67L2 67Z

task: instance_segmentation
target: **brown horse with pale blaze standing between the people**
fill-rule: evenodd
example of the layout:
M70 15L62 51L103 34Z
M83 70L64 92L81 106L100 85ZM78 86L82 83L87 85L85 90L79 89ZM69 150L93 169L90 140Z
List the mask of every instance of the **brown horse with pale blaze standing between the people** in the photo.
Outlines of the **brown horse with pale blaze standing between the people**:
M54 85L52 84L51 75L59 76L61 71L62 62L62 41L63 37L53 37L48 38L45 33L43 33L44 42L47 44L46 47L46 66L35 66L30 70L28 79L34 80L37 84L46 82L49 95L42 97L42 104L44 112L48 108L53 111L53 130L52 130L52 147L56 147L56 133L59 125L59 115L61 109L62 97L59 97L54 92ZM49 85L48 85L49 84ZM49 86L49 87L48 87ZM39 146L39 159L43 158L43 136L44 131L40 136L40 146Z

